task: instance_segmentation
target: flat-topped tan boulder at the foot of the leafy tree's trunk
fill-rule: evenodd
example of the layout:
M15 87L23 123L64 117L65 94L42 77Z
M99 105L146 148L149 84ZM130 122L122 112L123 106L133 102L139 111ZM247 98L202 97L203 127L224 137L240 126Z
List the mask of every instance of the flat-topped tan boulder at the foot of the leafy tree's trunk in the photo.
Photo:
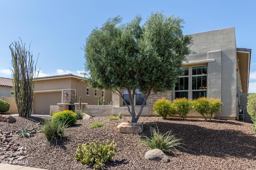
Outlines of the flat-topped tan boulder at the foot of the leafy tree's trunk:
M122 122L117 126L117 129L121 133L142 133L143 125L142 123Z

